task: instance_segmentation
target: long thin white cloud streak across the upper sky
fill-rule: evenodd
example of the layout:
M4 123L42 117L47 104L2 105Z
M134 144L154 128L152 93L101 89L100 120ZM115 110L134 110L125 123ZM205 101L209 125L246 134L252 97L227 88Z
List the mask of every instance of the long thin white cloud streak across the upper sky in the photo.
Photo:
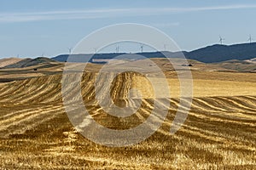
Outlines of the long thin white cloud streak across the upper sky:
M108 8L92 10L67 10L67 11L44 11L34 13L0 13L0 23L4 22L27 22L37 20L80 20L96 18L112 18L125 16L143 16L157 14L189 13L208 10L247 9L256 8L253 5L227 5L213 7L193 8Z

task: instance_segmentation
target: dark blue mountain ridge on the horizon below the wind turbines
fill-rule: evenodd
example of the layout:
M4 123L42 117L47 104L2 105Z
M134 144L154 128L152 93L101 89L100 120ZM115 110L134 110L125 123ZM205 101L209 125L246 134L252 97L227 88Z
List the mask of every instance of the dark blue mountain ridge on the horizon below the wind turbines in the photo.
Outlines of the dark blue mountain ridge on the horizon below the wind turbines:
M84 61L84 58L89 58L93 55L93 59L113 59L121 54L125 53L111 53L111 54L71 54L73 62ZM252 43L241 43L234 45L220 45L215 44L212 46L207 46L205 48L195 49L190 52L147 52L147 53L137 53L143 55L146 58L179 58L185 56L187 59L195 59L204 63L216 63L231 59L245 60L256 58L256 42ZM165 55L164 55L165 54ZM52 59L57 61L65 62L69 54L61 54ZM89 62L93 62L90 59Z

